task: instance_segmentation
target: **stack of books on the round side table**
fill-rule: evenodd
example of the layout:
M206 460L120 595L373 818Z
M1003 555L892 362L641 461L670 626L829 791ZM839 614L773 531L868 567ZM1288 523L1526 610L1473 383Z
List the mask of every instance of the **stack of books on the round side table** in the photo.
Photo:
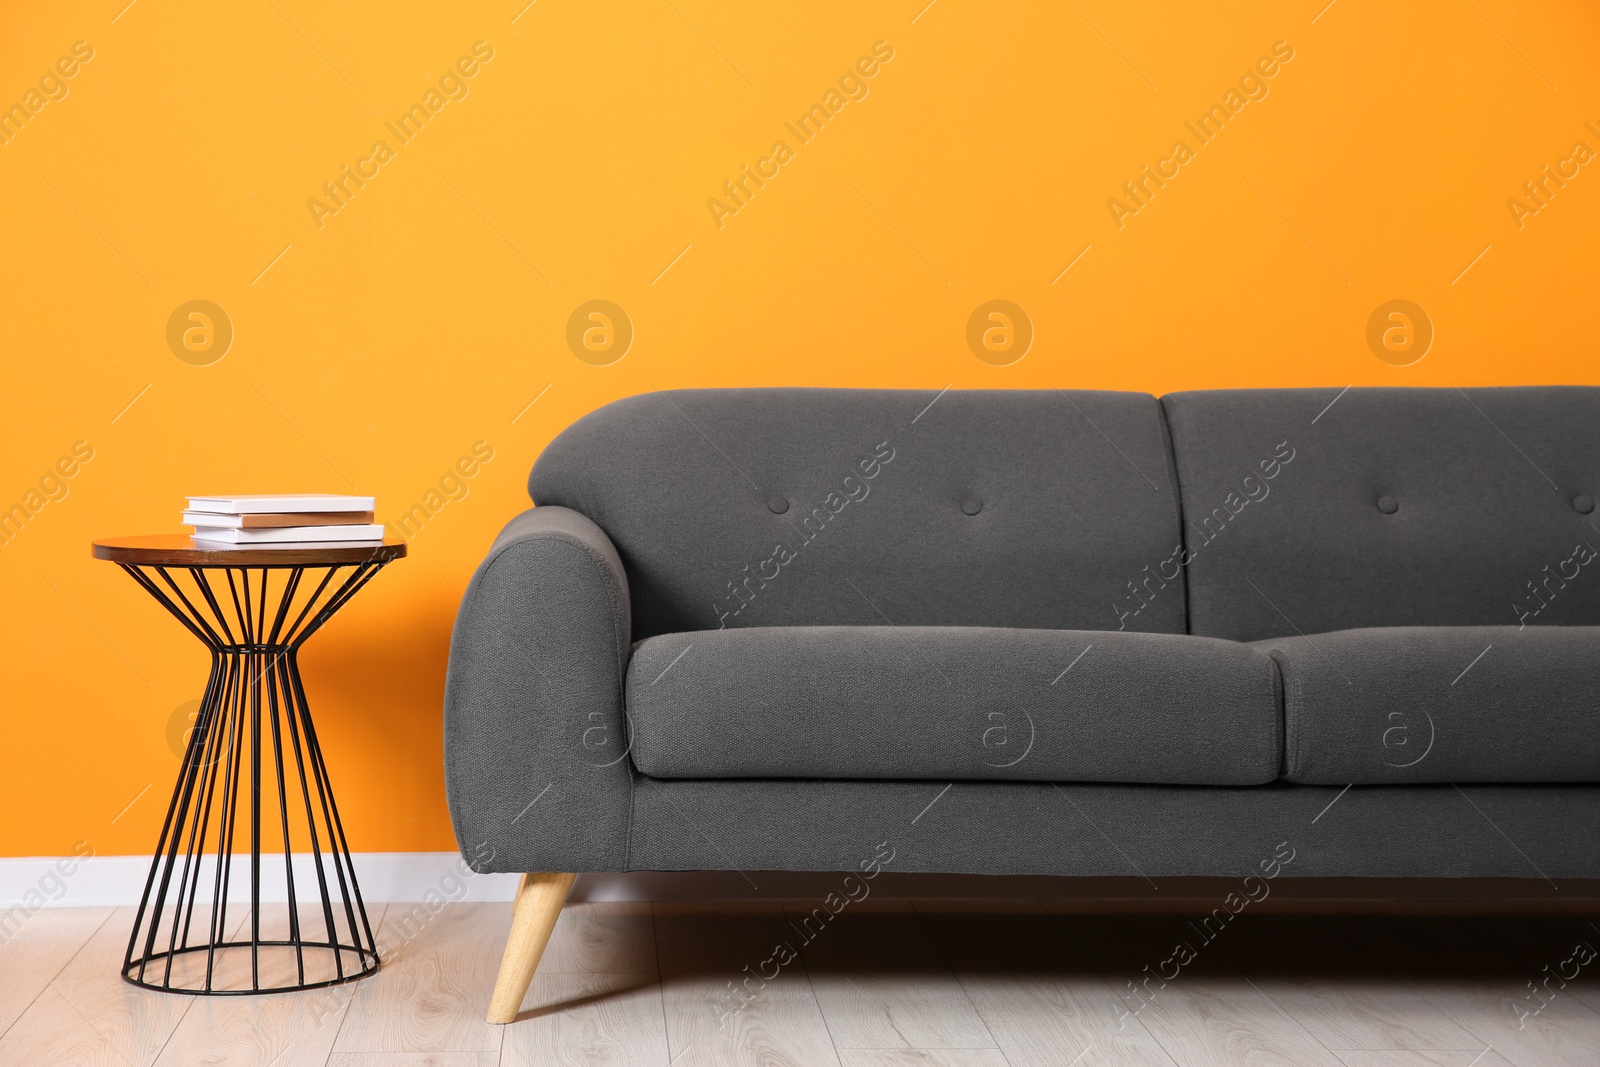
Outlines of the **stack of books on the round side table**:
M190 496L184 522L195 541L285 549L304 544L378 544L371 496L299 493L293 496Z

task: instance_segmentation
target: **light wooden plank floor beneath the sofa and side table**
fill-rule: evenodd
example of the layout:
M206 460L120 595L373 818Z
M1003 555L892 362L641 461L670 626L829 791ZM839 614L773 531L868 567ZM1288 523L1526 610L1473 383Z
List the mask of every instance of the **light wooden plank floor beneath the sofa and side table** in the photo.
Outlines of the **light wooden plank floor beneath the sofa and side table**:
M0 947L0 1064L1600 1064L1600 958L1573 957L1600 947L1586 909L1269 901L1218 929L1210 902L874 897L806 942L810 907L568 905L509 1027L482 1021L504 904L378 905L376 977L246 998L133 989L117 977L128 910L45 910ZM797 958L768 963L781 944ZM1179 944L1181 969L1165 963ZM1534 998L1546 966L1576 977ZM731 990L760 971L778 977L750 979L741 1009Z

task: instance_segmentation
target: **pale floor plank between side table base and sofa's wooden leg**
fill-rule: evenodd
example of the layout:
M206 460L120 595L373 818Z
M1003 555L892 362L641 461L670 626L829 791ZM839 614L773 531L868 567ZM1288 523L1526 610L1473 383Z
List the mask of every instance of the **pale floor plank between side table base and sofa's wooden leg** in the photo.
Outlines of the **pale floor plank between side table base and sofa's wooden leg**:
M498 1051L501 1027L483 1013L509 929L498 902L390 904L378 934L382 969L357 987L334 1051Z

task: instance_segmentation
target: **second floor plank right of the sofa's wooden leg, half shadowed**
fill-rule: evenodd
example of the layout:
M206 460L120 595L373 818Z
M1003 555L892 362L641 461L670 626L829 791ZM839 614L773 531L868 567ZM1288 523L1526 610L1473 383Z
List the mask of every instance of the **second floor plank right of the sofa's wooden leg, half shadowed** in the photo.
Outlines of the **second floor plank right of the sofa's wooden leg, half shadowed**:
M696 1067L838 1067L778 902L656 904L667 1045ZM779 960L792 957L792 961Z

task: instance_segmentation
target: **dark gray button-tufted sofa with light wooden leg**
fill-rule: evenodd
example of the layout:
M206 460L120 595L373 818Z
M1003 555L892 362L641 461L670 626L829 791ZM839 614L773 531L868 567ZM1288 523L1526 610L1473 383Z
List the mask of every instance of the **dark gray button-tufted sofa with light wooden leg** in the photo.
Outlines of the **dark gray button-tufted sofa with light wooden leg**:
M445 769L539 947L552 872L885 843L1600 877L1600 389L658 392L528 488L456 619Z

